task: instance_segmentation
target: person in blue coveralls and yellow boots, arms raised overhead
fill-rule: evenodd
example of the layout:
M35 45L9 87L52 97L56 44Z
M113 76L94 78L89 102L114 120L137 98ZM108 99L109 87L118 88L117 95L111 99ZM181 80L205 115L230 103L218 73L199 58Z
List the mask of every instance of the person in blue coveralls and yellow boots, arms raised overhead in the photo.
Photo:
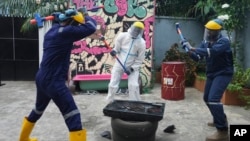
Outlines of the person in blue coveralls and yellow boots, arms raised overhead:
M96 21L80 10L68 9L56 14L54 23L44 36L43 58L36 74L36 102L28 117L24 117L19 141L37 141L30 133L49 102L59 108L69 130L70 141L86 141L80 112L66 86L73 42L96 31Z

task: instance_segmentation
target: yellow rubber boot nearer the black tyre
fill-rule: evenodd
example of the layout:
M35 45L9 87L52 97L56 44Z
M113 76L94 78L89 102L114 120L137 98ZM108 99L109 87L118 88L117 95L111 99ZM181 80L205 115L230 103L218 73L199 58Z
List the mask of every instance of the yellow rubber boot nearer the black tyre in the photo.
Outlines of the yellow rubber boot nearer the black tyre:
M87 131L85 129L80 131L69 132L69 141L87 141Z

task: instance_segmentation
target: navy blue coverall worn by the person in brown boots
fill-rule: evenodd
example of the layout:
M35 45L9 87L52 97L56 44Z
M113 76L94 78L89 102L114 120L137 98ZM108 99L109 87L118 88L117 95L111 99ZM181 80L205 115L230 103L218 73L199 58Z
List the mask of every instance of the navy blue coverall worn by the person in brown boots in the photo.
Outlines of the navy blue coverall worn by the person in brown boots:
M220 101L234 73L229 39L220 35L213 44L203 41L191 54L191 58L196 61L206 59L207 80L203 99L213 116L216 128L228 130L226 114Z

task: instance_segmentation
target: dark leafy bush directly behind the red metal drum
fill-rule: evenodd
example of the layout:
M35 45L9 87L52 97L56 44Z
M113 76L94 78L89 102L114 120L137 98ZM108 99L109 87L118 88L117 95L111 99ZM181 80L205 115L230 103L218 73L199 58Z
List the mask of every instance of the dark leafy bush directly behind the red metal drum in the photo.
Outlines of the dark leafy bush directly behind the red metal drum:
M163 62L181 61L185 62L185 86L193 86L195 78L195 70L197 63L193 61L186 52L180 49L177 43L172 44L169 50L165 52Z

